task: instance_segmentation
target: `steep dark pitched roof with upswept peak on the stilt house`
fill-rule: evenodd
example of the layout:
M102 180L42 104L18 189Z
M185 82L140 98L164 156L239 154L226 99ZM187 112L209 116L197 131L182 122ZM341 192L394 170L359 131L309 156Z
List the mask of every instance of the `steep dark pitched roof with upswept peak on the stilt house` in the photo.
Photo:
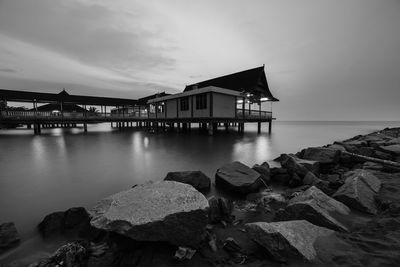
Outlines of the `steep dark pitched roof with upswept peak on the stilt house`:
M268 101L279 101L269 90L264 66L187 85L184 91L186 92L207 86L217 86L239 92L248 92L259 97L268 98Z

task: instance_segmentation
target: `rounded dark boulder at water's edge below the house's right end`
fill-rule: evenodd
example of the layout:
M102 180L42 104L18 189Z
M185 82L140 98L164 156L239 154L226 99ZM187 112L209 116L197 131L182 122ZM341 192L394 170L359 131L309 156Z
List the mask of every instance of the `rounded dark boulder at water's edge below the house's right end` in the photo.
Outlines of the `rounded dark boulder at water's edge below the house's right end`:
M217 170L215 185L229 192L248 194L257 191L264 184L258 172L235 161Z

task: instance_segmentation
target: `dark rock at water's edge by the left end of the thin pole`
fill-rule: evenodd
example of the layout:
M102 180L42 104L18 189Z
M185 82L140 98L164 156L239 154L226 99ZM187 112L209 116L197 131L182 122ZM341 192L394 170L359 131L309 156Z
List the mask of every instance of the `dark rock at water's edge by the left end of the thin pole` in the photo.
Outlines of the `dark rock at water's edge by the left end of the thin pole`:
M340 150L326 147L309 147L300 152L300 158L318 161L320 167L325 170L338 163L340 153Z

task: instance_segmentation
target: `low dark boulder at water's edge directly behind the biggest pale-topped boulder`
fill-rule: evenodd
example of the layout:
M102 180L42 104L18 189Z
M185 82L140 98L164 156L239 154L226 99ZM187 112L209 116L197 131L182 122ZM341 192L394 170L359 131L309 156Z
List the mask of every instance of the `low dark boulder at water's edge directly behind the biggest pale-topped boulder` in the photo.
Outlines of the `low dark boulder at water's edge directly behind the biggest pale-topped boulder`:
M169 172L164 181L190 184L199 191L207 191L211 185L211 179L201 171Z

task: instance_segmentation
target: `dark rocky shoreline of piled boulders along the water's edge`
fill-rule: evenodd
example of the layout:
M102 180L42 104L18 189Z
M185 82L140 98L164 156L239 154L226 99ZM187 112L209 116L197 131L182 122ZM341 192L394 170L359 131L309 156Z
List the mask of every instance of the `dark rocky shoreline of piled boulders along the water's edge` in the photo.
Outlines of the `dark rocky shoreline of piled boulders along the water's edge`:
M168 173L92 209L47 215L65 237L30 266L382 266L400 262L400 128L282 154L280 167ZM278 165L279 165L278 164ZM0 225L0 253L18 244Z

